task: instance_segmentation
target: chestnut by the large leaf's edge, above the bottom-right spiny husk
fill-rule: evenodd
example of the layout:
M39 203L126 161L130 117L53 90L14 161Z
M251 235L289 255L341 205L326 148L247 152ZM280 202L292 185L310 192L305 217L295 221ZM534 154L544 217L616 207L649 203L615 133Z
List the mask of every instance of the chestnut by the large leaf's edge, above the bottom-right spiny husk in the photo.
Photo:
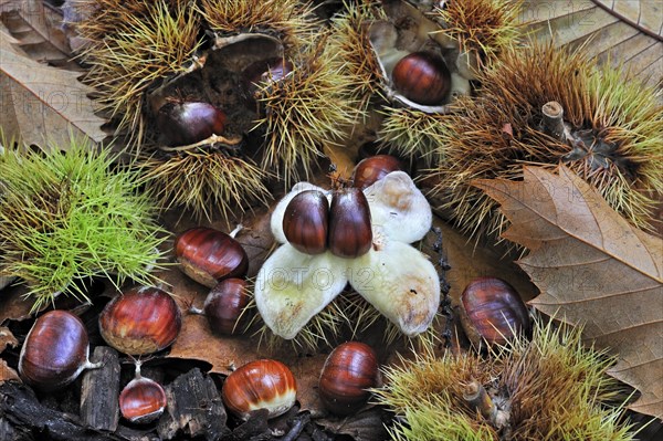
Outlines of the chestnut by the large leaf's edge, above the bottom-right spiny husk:
M461 294L461 324L475 347L504 345L530 329L529 314L516 290L497 277L477 277Z

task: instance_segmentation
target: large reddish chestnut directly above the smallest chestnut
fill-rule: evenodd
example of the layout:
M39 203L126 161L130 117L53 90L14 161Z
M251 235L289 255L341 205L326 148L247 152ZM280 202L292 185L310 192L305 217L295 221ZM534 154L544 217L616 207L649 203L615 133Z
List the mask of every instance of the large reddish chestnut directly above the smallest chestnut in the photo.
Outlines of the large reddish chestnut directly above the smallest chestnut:
M99 314L99 332L120 353L144 355L170 346L182 326L172 297L154 286L131 288L113 298Z

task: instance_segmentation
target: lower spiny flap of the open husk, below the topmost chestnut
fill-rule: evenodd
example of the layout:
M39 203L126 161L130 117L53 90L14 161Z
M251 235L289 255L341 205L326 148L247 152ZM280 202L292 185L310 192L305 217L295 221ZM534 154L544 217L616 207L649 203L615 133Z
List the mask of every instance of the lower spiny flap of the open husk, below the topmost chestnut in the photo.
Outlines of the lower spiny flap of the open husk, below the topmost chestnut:
M428 114L415 108L382 109L385 119L377 140L388 150L404 158L421 159L431 166L444 158L445 115Z

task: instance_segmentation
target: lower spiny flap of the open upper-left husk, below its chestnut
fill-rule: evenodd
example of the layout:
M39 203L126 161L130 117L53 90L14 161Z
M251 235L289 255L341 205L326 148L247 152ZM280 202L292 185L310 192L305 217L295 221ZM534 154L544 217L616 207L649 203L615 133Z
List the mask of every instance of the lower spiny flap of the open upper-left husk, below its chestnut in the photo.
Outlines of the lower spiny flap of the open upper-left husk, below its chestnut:
M161 207L185 207L194 217L208 220L220 212L230 219L244 210L248 202L264 204L271 198L264 181L269 174L245 158L220 150L190 149L173 154L156 153L144 158L147 187L152 189Z

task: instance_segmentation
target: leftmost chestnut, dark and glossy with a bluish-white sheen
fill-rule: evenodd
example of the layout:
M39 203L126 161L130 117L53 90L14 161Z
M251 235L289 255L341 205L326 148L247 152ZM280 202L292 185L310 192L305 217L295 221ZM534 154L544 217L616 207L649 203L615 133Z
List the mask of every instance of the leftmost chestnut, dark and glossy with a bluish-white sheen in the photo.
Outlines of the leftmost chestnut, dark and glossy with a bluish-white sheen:
M28 385L43 391L62 389L88 368L90 339L81 318L66 311L39 317L25 337L19 374Z

